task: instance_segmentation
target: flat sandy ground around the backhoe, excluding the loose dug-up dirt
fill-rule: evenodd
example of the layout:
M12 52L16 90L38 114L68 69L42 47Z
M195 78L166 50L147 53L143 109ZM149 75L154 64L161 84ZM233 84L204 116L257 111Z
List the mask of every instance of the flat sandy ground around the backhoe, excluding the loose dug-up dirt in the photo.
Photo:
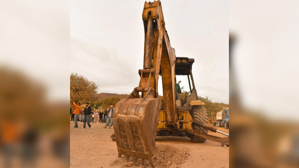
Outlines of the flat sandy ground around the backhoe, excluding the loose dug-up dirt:
M124 168L125 164L115 164L117 147L115 141L110 139L114 133L113 128L104 129L104 124L91 123L91 129L81 129L83 123L78 122L79 128L72 128L70 122L70 167L71 168ZM228 129L217 128L229 133ZM224 136L219 133L209 132L211 135ZM190 156L180 166L182 168L228 168L229 147L223 148L220 143L207 140L205 143L192 143L187 137L156 137L157 146L171 144L178 148L188 148ZM109 155L106 155L109 153ZM122 160L125 157L122 156ZM119 161L119 160L118 160ZM133 166L134 167L134 166Z

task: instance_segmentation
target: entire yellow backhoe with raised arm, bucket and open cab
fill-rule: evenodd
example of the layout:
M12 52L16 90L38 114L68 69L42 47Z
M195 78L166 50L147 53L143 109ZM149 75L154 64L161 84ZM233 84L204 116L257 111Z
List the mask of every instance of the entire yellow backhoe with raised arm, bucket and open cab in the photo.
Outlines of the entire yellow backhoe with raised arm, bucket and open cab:
M207 125L207 110L203 107L205 103L198 100L193 81L194 59L176 57L174 48L170 46L159 0L145 1L142 20L145 41L143 69L138 71L139 85L128 98L115 105L113 113L118 157L125 155L148 160L154 167L152 156L156 135L187 136L197 143L209 139L228 145L228 137L207 134L208 129L220 131ZM159 75L163 86L162 103L158 98ZM190 94L184 100L177 99L176 75L188 78Z

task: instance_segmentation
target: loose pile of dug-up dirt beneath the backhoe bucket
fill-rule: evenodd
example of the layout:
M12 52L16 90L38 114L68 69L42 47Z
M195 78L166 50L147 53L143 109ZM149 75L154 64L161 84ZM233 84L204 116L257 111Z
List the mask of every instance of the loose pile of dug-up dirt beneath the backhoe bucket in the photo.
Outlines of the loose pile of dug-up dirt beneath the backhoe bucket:
M156 144L156 151L153 157L154 165L156 168L178 168L182 167L181 164L186 162L190 156L190 149L183 146L173 146L173 145L161 145ZM145 161L146 167L150 167L148 161ZM144 167L140 159L118 158L115 160L111 166L119 165L122 168L126 167L135 167L142 168Z

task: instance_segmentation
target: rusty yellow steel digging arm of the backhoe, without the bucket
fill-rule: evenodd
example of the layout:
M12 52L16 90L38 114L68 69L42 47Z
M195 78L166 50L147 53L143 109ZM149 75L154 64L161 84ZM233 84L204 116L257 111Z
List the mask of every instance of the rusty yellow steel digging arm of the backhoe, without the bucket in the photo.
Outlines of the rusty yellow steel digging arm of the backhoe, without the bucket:
M154 89L158 97L158 77L161 67L165 125L176 126L177 114L175 104L175 52L170 46L165 29L164 16L160 1L145 2L142 13L144 23L144 65L139 70L140 81L134 89L138 97L143 98L149 88Z

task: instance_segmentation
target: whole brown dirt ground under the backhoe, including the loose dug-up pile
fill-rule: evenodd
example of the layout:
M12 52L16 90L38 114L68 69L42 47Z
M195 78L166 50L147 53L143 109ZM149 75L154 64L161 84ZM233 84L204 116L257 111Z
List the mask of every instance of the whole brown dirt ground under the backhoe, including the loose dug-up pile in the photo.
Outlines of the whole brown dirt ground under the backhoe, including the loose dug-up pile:
M70 167L71 168L141 168L139 160L129 160L117 157L116 142L110 139L113 128L104 129L104 124L91 123L91 129L81 129L83 123L78 122L79 128L72 128L70 122ZM218 128L229 133L228 129ZM219 133L208 134L225 137ZM156 137L156 152L153 157L157 168L228 168L229 147L224 148L220 143L207 140L205 143L192 143L187 137ZM148 162L146 162L148 164ZM146 165L147 166L147 165ZM150 168L150 166L147 166Z

